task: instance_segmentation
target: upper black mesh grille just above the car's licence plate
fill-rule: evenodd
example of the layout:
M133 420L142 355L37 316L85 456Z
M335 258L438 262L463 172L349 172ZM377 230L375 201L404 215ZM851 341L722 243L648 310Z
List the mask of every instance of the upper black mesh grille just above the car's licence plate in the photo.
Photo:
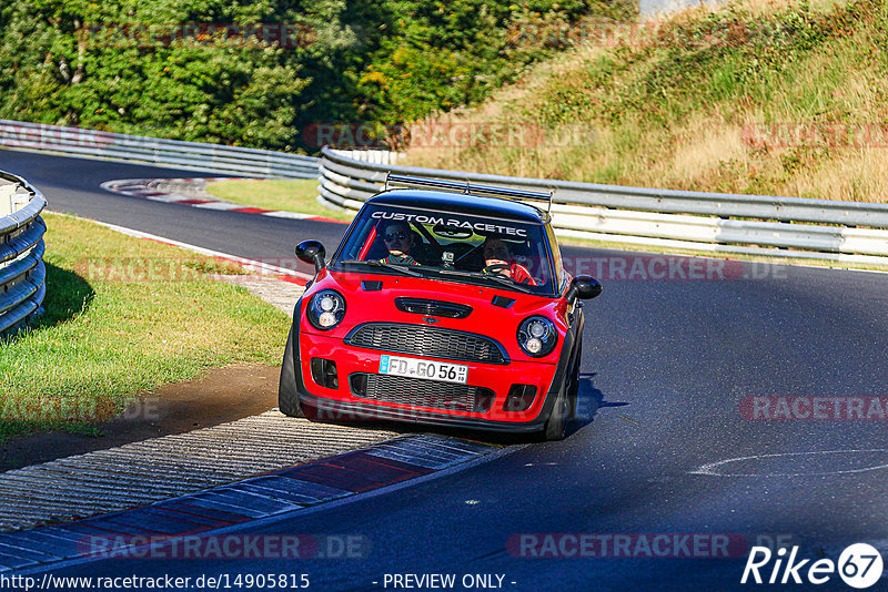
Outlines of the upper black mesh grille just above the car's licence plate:
M345 343L414 356L508 364L502 347L493 339L473 333L422 325L367 323L349 334Z

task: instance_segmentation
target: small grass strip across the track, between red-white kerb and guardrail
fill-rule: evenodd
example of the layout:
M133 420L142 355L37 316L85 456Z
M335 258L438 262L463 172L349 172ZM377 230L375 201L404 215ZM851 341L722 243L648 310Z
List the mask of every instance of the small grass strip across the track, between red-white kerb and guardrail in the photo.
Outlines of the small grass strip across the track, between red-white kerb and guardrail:
M314 178L218 181L211 183L206 191L221 200L265 210L299 212L344 221L351 221L354 215L319 204L317 180Z

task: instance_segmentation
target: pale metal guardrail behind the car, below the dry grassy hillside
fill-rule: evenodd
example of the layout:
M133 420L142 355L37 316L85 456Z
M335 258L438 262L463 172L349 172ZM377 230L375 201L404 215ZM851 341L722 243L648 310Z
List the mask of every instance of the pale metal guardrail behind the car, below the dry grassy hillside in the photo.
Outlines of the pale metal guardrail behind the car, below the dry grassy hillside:
M595 241L888 265L888 204L598 185L394 166L324 149L320 201L359 208L386 173L554 191L562 235Z

